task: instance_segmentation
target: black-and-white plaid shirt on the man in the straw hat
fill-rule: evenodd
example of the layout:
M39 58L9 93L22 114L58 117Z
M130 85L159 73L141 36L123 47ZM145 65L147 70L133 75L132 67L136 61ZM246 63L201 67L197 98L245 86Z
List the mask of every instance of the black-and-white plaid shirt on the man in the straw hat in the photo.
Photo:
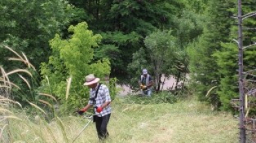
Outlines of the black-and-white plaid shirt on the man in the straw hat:
M90 98L95 98L96 90L98 89L98 87L99 87L99 84L97 85L97 87L95 87L95 89L90 90ZM109 95L109 88L106 85L100 85L100 89L98 91L97 98L95 99L95 102L96 102L95 106L97 106L97 107L100 107L105 102L111 102L111 98ZM93 104L93 101L89 100L89 104ZM94 111L95 111L95 113L97 113L96 109L94 109ZM107 105L107 107L105 107L104 109L102 109L102 111L98 114L98 116L102 117L109 113L111 113L110 104Z

